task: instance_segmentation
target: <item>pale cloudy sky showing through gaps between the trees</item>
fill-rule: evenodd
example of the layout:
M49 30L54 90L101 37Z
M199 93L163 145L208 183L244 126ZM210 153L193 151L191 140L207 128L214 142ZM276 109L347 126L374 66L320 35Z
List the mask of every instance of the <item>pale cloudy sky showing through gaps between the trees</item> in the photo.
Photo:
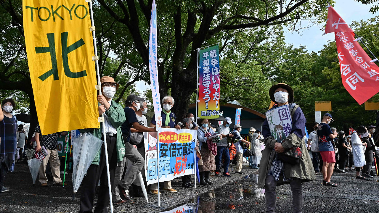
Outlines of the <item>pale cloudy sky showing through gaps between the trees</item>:
M372 14L370 12L371 5L363 5L359 2L354 2L354 0L336 0L334 5L334 9L338 14L345 20L348 25L351 24L352 21L359 21L361 19L367 20L374 16L377 16L379 13ZM306 25L307 21L302 21L301 25ZM304 27L304 26L303 26ZM287 44L293 44L294 47L299 47L300 45L307 46L307 50L309 52L315 51L318 52L327 44L328 41L335 40L334 33L328 33L323 36L324 29L323 25L313 25L310 28L306 28L302 30L301 33L297 31L291 33L285 33L285 42ZM286 29L286 31L288 31ZM222 67L220 67L222 72ZM149 86L145 85L144 81L136 82L136 89L143 94Z

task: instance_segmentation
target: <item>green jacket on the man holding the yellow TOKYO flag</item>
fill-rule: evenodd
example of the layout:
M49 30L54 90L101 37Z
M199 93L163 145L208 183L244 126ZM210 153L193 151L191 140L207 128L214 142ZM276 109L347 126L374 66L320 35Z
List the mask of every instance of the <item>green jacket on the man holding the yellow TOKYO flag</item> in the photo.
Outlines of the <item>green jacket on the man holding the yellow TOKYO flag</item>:
M111 107L105 112L105 114L108 116L108 120L111 122L113 127L117 130L117 137L116 137L116 154L117 154L117 161L121 161L122 158L124 158L125 155L125 144L124 139L122 138L122 132L121 132L121 125L126 121L124 108L119 103L116 103L112 100ZM100 128L88 128L88 129L81 129L79 130L81 133L84 132L90 132L95 137L102 139L102 124L100 123ZM101 153L101 147L98 150L94 160L92 161L92 164L99 165L100 164L100 153Z

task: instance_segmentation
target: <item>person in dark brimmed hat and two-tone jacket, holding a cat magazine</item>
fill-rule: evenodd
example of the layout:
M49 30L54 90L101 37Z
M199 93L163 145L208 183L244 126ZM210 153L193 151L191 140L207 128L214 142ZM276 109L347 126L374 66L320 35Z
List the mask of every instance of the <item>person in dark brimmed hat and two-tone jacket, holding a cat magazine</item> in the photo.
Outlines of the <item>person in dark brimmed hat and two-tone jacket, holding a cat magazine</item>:
M290 135L282 141L277 141L271 135L268 120L262 126L263 143L266 148L262 151L258 188L266 188L266 212L275 212L277 185L290 184L293 197L293 212L301 213L303 206L302 182L316 179L312 161L302 141L305 130L305 117L299 105L293 102L293 89L280 83L269 90L270 99L277 103L278 107L288 105L292 117L292 129ZM279 160L278 153L283 153L292 147L301 147L302 157L298 163L290 164Z

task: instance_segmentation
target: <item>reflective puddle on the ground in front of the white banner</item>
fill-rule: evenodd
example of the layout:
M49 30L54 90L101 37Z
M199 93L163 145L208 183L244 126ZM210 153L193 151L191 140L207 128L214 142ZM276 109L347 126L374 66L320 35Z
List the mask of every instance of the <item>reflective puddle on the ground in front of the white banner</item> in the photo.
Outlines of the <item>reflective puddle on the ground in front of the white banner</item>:
M189 199L185 205L175 206L161 213L213 213L220 209L235 209L238 205L235 205L233 200L265 196L264 189L256 188L258 174L246 175L243 180L220 186Z

